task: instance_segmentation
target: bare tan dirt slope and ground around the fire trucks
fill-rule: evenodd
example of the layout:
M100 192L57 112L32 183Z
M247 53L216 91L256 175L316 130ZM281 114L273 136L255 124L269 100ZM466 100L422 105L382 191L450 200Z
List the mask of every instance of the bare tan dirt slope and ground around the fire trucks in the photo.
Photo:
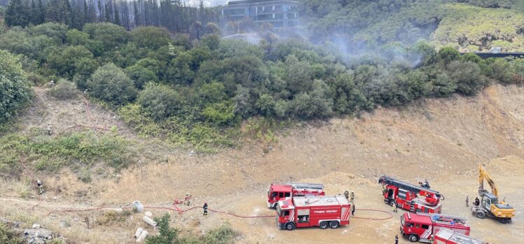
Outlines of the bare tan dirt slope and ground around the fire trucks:
M45 128L47 121L61 125L60 114L69 118L63 128L90 123L81 100L59 104L39 92L41 98L37 99L43 102L23 115L27 119L22 128ZM69 106L78 107L78 112L71 112ZM128 139L144 142L110 111L92 105L91 113L99 124L117 126ZM42 201L20 198L21 191L34 191L27 176L17 182L2 180L0 184L6 187L0 189L0 216L27 225L39 222L71 243L132 243L134 229L144 226L141 214L133 214L122 223L91 224L92 228L86 229L85 217L96 219L98 213L50 211L116 208L135 200L170 206L174 198L183 198L189 192L194 205L207 201L209 208L216 210L274 215L274 210L266 208L266 189L276 180L321 182L327 194L354 191L357 217L385 217L359 209L391 210L382 201L377 180L381 175L392 175L409 182L428 179L433 189L446 196L443 213L468 217L471 236L489 243L524 243L524 88L490 86L476 97L422 100L402 109L376 109L360 118L308 123L280 132L269 153L263 153L264 149L268 149L267 144L249 142L217 154L190 156L191 149L158 147L152 153L158 158L170 155L168 163L146 161L120 172L116 179L85 184L67 170L41 175L49 189ZM502 198L516 208L511 224L477 219L465 206L466 196L477 196L481 163ZM153 211L155 216L163 212ZM200 210L173 213L172 224L182 233L198 235L228 222L237 231L237 243L394 243L402 213L399 210L384 221L352 219L349 226L334 230L279 231L274 217L241 219L215 213L202 217ZM408 241L401 238L401 243Z

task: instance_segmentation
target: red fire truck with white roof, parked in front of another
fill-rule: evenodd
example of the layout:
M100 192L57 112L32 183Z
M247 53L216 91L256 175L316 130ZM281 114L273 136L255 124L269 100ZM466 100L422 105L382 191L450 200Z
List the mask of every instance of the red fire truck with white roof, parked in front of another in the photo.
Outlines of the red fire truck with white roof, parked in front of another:
M296 196L284 198L277 205L277 227L295 228L319 226L336 229L350 224L351 204L344 196Z

